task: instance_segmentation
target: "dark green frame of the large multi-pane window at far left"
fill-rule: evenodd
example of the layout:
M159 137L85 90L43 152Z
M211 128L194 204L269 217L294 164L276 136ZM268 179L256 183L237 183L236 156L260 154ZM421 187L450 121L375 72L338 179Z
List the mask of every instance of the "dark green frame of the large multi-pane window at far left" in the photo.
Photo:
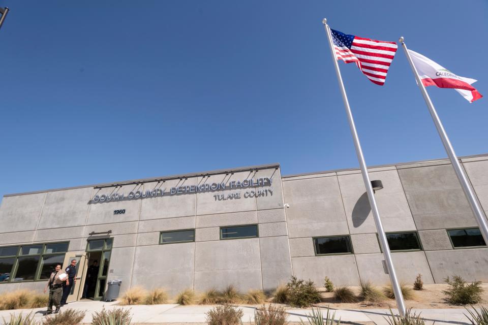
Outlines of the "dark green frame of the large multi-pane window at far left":
M65 252L45 253L46 245L49 245L49 244L67 244L67 248L66 248ZM25 255L21 254L22 247L34 246L34 245L41 245L42 246L41 252L39 254L25 254ZM54 255L64 255L64 257L66 257L66 254L69 252L69 249L70 249L70 241L68 240L68 241L59 241L59 242L26 243L26 244L19 244L19 245L7 245L7 246L2 246L2 247L18 247L18 249L17 249L16 255L9 255L9 256L0 257L0 260L4 259L4 258L15 258L15 262L14 262L14 265L12 266L12 271L10 273L9 281L2 281L2 282L0 282L0 285L4 284L4 283L42 282L42 281L48 281L49 280L49 279L40 279L39 278L41 276L41 270L42 270L42 265L43 265L43 257L44 256L54 256ZM39 256L39 261L37 262L36 271L34 272L34 279L13 281L13 279L17 275L17 271L18 271L18 267L19 267L19 258L34 257L34 256Z

